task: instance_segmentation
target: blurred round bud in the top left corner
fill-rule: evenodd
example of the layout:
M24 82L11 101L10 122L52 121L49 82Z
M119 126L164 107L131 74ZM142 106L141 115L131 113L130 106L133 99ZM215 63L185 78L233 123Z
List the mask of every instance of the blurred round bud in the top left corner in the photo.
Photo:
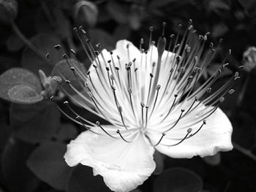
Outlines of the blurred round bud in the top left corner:
M0 21L11 23L17 17L18 3L16 0L0 0Z

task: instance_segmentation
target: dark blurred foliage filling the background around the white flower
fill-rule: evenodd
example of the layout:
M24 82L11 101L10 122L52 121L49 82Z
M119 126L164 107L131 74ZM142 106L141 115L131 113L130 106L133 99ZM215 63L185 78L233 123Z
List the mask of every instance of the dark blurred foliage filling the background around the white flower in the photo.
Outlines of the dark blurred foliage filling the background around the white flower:
M118 39L138 46L143 38L147 48L149 26L159 31L165 21L168 35L176 34L190 18L198 34L211 33L214 45L224 39L206 78L232 49L219 80L225 82L241 66L246 48L256 45L255 0L0 0L0 191L109 191L91 168L65 164L65 145L83 129L49 101L53 93L57 102L64 98L51 77L67 72L68 66L60 67L67 64L62 51L72 55L72 48L84 72L90 65L72 28L83 26L92 45L100 42L108 50ZM158 36L154 32L153 39ZM241 72L236 94L222 105L234 127L233 151L179 160L156 153L157 169L135 191L255 191L255 82L255 69Z

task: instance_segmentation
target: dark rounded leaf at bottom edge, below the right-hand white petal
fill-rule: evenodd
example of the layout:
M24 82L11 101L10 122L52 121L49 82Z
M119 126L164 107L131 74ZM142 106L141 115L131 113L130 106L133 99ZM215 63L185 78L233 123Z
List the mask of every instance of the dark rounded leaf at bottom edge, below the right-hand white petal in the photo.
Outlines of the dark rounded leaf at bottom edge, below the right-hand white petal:
M154 192L198 192L202 189L201 178L184 168L166 169L154 181Z

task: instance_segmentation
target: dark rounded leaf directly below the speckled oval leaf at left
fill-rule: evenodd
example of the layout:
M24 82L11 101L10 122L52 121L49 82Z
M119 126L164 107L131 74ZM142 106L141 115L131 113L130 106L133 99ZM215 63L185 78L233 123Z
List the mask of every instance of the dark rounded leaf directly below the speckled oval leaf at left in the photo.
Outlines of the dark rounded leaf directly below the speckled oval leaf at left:
M50 102L12 104L10 122L15 127L16 137L31 143L45 142L56 133L60 112Z

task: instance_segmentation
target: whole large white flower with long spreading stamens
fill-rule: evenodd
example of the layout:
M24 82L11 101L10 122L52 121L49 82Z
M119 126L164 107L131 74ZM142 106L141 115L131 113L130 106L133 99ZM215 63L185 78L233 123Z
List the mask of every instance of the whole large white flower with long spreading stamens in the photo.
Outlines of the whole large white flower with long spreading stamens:
M178 36L171 35L165 50L163 29L157 47L150 36L148 51L142 49L143 40L140 49L121 40L115 50L99 52L82 28L75 31L91 59L91 67L84 74L64 55L83 90L78 91L66 80L69 91L63 91L110 125L80 117L65 101L76 115L73 120L87 129L67 145L64 159L69 166L91 166L94 175L102 175L111 190L131 191L154 172L155 150L172 158L192 158L233 148L232 126L219 104L233 93L231 87L238 73L217 91L211 91L227 65L222 64L198 86L215 51L210 43L203 55L208 34L198 39L190 25L180 43ZM153 28L150 31L151 35Z

